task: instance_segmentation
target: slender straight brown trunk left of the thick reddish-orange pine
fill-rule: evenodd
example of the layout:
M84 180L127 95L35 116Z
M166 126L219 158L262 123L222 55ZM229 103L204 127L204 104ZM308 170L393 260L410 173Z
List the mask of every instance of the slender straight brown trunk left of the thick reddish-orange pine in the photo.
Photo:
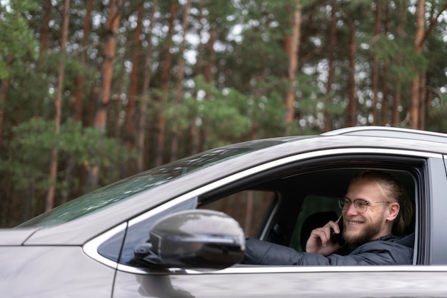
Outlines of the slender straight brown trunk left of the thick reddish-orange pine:
M54 100L54 139L59 135L59 128L61 125L61 111L62 111L62 94L64 93L64 72L65 72L65 58L66 58L66 43L69 36L69 9L70 0L64 0L64 7L62 10L62 26L61 26L61 61L59 61L57 93ZM54 207L54 188L57 180L57 165L58 165L59 151L57 145L51 149L50 159L50 173L49 173L49 190L46 194L45 211L49 211Z

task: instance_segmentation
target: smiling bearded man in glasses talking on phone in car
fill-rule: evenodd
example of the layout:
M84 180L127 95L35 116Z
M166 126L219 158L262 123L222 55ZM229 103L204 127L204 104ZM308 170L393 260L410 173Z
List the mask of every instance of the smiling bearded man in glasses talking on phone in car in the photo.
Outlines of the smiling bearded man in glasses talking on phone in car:
M414 235L403 230L413 217L413 205L401 183L381 171L365 171L351 180L338 200L346 244L331 241L340 234L338 221L311 232L306 252L261 240L246 241L244 264L377 265L412 264Z

